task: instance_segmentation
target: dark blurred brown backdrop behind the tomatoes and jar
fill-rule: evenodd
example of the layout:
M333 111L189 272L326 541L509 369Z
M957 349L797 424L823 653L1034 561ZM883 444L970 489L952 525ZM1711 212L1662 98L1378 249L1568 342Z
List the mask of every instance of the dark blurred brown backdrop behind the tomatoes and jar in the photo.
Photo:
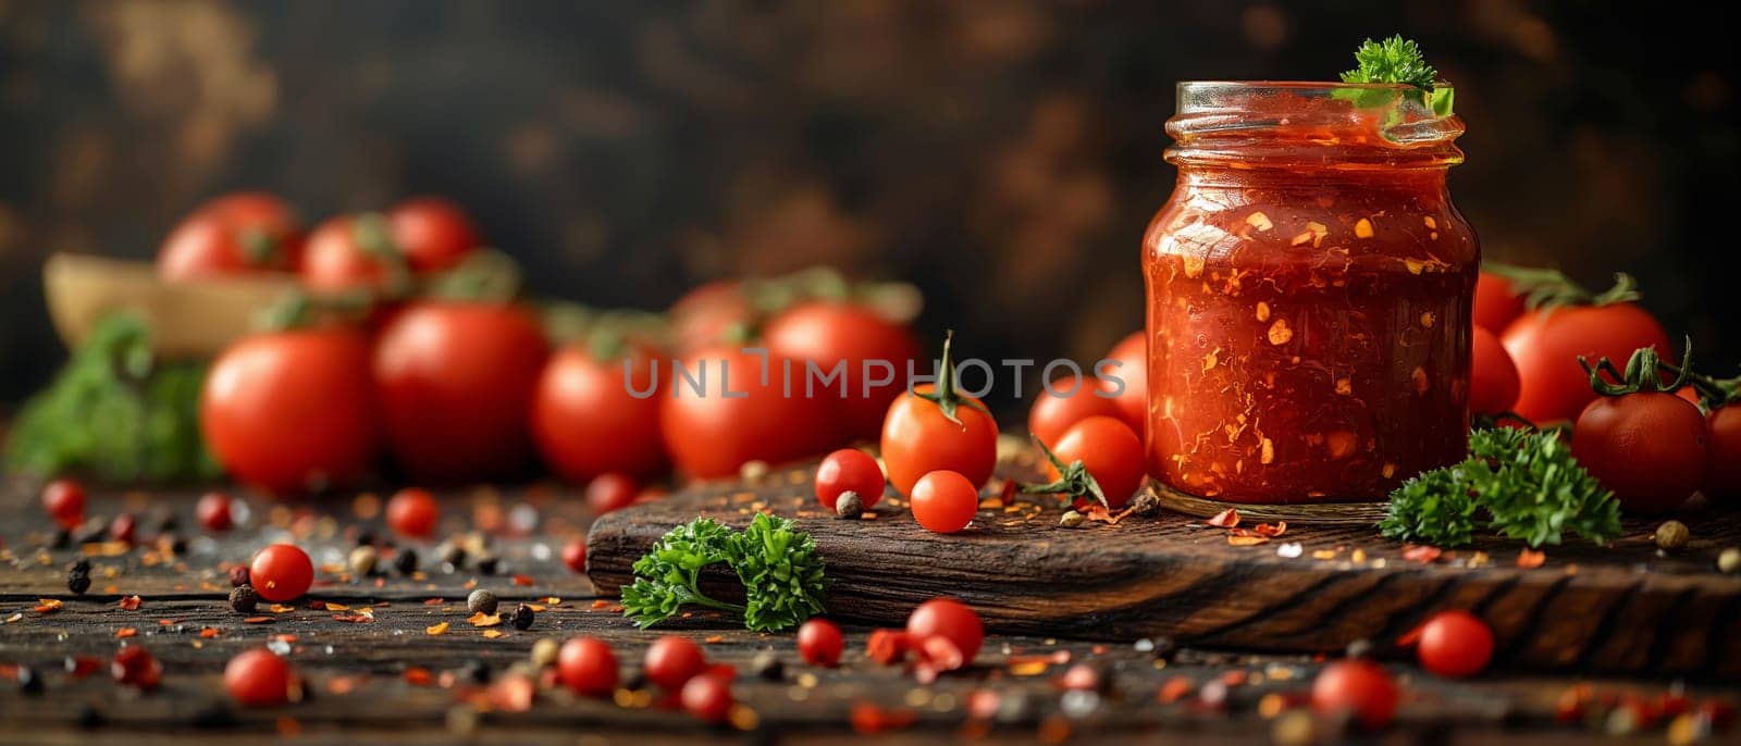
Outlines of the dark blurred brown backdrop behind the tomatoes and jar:
M543 296L907 278L977 356L1140 323L1173 82L1332 78L1402 31L1457 85L1489 257L1644 283L1734 370L1732 31L1600 2L0 0L0 410L64 358L49 252L150 257L200 200L468 205Z

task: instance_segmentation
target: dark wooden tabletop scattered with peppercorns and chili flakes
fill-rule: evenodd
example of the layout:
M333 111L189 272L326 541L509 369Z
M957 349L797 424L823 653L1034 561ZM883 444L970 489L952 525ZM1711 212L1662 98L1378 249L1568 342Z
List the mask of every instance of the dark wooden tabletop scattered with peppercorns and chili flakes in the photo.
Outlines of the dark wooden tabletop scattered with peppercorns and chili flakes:
M749 633L695 614L667 631L691 636L712 661L740 668L735 692L742 709L733 725L710 727L637 683L639 659L656 635L635 629L611 598L594 593L585 576L561 565L561 546L592 522L569 489L449 492L440 536L487 530L501 560L498 572L481 574L472 563L449 572L437 565L434 544L400 543L420 551L423 572L404 577L388 570L378 579L350 577L343 567L359 532L385 536L381 499L374 496L272 503L237 492L252 515L237 530L209 536L192 516L197 490L92 490L87 525L134 513L139 546L75 543L52 550L38 489L19 478L0 485L0 743L9 744L192 744L273 732L301 743L822 743L851 736L855 709L860 729L870 711L893 713L897 722L911 718L911 725L862 736L898 743L1119 743L1165 736L1271 743L1307 722L1316 743L1663 743L1671 736L1670 723L1610 737L1605 730L1619 723L1600 711L1590 722L1558 723L1556 703L1584 683L1598 694L1687 692L1731 704L1741 696L1736 682L1722 678L1543 675L1504 659L1483 676L1447 682L1381 647L1407 690L1405 704L1391 729L1360 734L1288 708L1309 687L1321 656L1189 645L1158 656L1144 642L1095 642L1092 626L1074 626L1071 640L992 635L971 669L921 685L900 668L867 661L862 626L848 629L841 666L823 669L801 663L790 635ZM1100 529L1107 530L1106 541L1119 536L1118 527ZM171 536L185 543L179 553L165 551ZM291 610L261 612L270 623L244 623L226 603L226 570L259 546L284 539L310 550L319 565L317 586ZM94 584L75 596L66 588L66 569L77 556L92 560ZM505 607L524 600L547 610L529 631L507 624L474 628L465 610L474 588L493 589ZM122 609L122 598L132 595L139 607ZM57 600L61 609L35 610L44 600ZM338 619L359 616L369 621ZM430 635L442 623L446 631ZM470 683L477 668L500 680L528 659L536 640L571 635L609 642L623 663L627 689L611 701L540 689L528 711L505 711L486 706L486 687ZM310 697L282 708L237 708L223 692L223 666L233 654L266 643L289 650ZM162 661L162 687L141 694L110 678L108 659L122 645L143 645ZM783 676L749 671L761 650L780 656ZM103 666L77 678L68 661L78 657ZM7 682L19 664L44 678L44 692L23 692ZM1099 694L1065 694L1057 680L1076 664L1099 668L1109 683ZM1184 683L1170 683L1175 680ZM1168 687L1186 694L1163 703L1160 692ZM1710 737L1734 743L1738 736L1731 729Z

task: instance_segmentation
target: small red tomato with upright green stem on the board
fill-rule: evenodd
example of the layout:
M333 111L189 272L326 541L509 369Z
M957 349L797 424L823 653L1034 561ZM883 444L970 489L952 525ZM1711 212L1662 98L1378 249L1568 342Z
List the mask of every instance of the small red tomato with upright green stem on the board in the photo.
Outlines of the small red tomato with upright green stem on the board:
M985 405L956 390L951 339L937 384L918 386L895 398L883 421L883 464L900 494L912 494L919 476L947 470L977 490L998 464L998 423Z

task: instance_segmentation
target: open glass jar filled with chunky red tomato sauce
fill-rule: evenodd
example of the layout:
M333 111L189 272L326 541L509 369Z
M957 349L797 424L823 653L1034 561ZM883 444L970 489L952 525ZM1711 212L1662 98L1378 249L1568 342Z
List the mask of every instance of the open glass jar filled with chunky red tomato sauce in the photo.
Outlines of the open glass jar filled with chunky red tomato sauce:
M1144 236L1149 471L1233 503L1384 499L1468 449L1480 247L1462 122L1417 89L1187 82Z

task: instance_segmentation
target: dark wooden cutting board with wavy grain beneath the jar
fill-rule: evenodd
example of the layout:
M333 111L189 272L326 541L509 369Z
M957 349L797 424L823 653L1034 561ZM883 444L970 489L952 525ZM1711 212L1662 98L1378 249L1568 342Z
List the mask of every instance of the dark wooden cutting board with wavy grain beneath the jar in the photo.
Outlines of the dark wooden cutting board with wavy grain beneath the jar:
M1468 609L1494 628L1502 668L1741 676L1741 576L1715 567L1722 548L1741 544L1732 510L1682 516L1694 539L1675 555L1657 553L1656 522L1628 520L1610 548L1548 548L1541 567L1523 569L1509 541L1407 560L1370 523L1295 522L1257 546L1229 546L1224 529L1173 511L1064 529L1048 499L982 508L968 530L938 536L891 497L874 520L834 518L811 471L702 483L606 515L588 536L588 574L613 595L670 527L698 515L742 527L768 510L817 537L834 581L829 616L843 621L900 626L919 602L949 595L1005 633L1335 652L1361 638L1384 649L1431 612ZM716 581L717 593L731 588L724 574Z

